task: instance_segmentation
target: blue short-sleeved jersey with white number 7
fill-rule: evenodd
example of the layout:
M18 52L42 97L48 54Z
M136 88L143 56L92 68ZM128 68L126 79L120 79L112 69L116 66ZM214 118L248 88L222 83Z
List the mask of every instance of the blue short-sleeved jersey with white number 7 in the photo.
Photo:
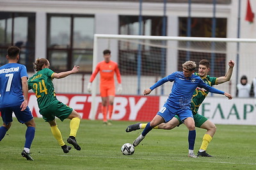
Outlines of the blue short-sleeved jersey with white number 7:
M26 66L8 63L0 67L0 108L20 106L24 101L21 78L28 73Z

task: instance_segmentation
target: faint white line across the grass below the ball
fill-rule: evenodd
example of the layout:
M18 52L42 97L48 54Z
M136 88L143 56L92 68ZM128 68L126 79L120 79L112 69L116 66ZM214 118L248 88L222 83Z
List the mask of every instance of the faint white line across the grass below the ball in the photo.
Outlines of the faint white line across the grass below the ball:
M59 155L61 157L74 157L74 155ZM124 157L122 157L124 156ZM134 157L131 157L131 155L121 155L120 157L102 157L102 156L81 156L81 155L77 155L76 157L96 157L96 158L111 158L111 159L138 159L138 158L134 158ZM157 159L157 158L154 158L154 159L151 159L151 158L140 158L140 159L143 159L143 160L163 160L163 159ZM236 163L236 162L216 162L216 161L209 161L209 159L207 159L207 161L202 161L202 159L200 159L200 161L196 160L196 159L200 159L200 158L190 158L189 160L180 160L180 159L177 159L177 160L170 160L170 161L179 161L179 162L191 162L191 160L193 162L207 162L207 163L214 163L214 164L243 164L243 165L256 165L256 163Z

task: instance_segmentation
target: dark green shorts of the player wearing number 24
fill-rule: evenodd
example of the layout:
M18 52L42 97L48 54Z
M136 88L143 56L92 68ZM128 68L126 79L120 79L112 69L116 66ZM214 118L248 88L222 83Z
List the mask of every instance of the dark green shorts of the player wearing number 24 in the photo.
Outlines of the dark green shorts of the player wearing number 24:
M55 117L60 118L63 121L67 118L73 109L60 101L54 101L50 106L40 110L40 114L43 116L45 122L51 122Z

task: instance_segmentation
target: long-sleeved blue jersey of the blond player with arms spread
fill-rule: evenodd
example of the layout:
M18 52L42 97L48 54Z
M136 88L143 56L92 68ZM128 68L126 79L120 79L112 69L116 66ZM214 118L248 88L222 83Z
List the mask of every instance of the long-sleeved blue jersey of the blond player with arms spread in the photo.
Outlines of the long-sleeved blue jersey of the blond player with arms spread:
M170 93L166 104L170 104L170 106L177 109L190 109L191 98L196 87L200 87L212 93L224 94L224 92L207 85L199 76L192 74L190 77L186 78L181 71L177 71L162 78L157 81L156 84L152 85L150 89L154 90L156 87L163 85L163 83L166 83L167 81L174 82L172 92Z

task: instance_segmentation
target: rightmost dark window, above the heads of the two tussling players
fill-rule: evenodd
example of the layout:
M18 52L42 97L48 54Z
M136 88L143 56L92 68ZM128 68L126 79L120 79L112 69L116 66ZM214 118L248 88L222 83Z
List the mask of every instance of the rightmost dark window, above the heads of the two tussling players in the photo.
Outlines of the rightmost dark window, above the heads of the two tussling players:
M179 18L179 36L187 36L187 24L188 18ZM216 38L226 38L227 37L227 18L216 18ZM191 18L191 36L192 37L212 37L212 18ZM180 42L179 46L184 42ZM200 42L202 43L202 42ZM193 46L202 46L202 44L193 42L189 44L192 48ZM212 43L205 42L204 46L223 46L226 48L225 43ZM186 51L179 50L179 71L182 71L182 63L186 62L188 53ZM189 52L189 59L194 60L196 64L202 59L207 59L211 63L211 76L222 76L225 73L226 55L225 53L209 53L209 52ZM212 70L213 69L213 70Z

